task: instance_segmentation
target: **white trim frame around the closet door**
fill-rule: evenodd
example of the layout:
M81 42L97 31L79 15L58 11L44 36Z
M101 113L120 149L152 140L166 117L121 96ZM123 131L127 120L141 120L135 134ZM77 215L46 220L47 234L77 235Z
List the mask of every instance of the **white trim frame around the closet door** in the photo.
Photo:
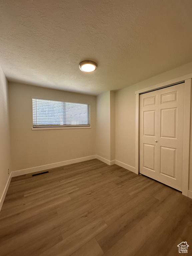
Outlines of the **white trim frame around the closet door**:
M138 91L136 96L136 122L135 122L135 173L139 174L139 95L155 91L178 83L185 86L184 92L184 122L183 122L183 171L182 171L182 194L188 196L189 184L189 151L190 151L190 120L191 120L191 79L192 73L178 77L167 82L153 85Z

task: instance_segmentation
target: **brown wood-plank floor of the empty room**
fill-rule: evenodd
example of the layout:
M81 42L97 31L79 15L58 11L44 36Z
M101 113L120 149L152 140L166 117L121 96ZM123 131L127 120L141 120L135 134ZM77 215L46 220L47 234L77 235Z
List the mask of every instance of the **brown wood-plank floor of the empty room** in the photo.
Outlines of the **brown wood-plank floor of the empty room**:
M175 256L183 241L192 255L192 199L96 159L12 178L0 212L1 256Z

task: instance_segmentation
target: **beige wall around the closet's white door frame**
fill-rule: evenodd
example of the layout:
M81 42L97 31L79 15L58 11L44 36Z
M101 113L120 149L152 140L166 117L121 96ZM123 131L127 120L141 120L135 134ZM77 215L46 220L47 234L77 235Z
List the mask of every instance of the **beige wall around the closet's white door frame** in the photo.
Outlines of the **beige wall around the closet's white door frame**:
M189 73L192 73L192 62L116 92L117 161L135 167L135 91ZM189 189L192 190L192 139L190 147Z

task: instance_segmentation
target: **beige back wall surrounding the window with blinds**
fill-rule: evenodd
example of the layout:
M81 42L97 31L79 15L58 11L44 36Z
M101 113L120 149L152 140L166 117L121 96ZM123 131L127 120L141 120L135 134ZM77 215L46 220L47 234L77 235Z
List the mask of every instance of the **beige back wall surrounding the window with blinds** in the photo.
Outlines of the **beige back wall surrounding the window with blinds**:
M31 97L87 103L91 128L32 130ZM9 83L13 171L95 155L96 97Z

